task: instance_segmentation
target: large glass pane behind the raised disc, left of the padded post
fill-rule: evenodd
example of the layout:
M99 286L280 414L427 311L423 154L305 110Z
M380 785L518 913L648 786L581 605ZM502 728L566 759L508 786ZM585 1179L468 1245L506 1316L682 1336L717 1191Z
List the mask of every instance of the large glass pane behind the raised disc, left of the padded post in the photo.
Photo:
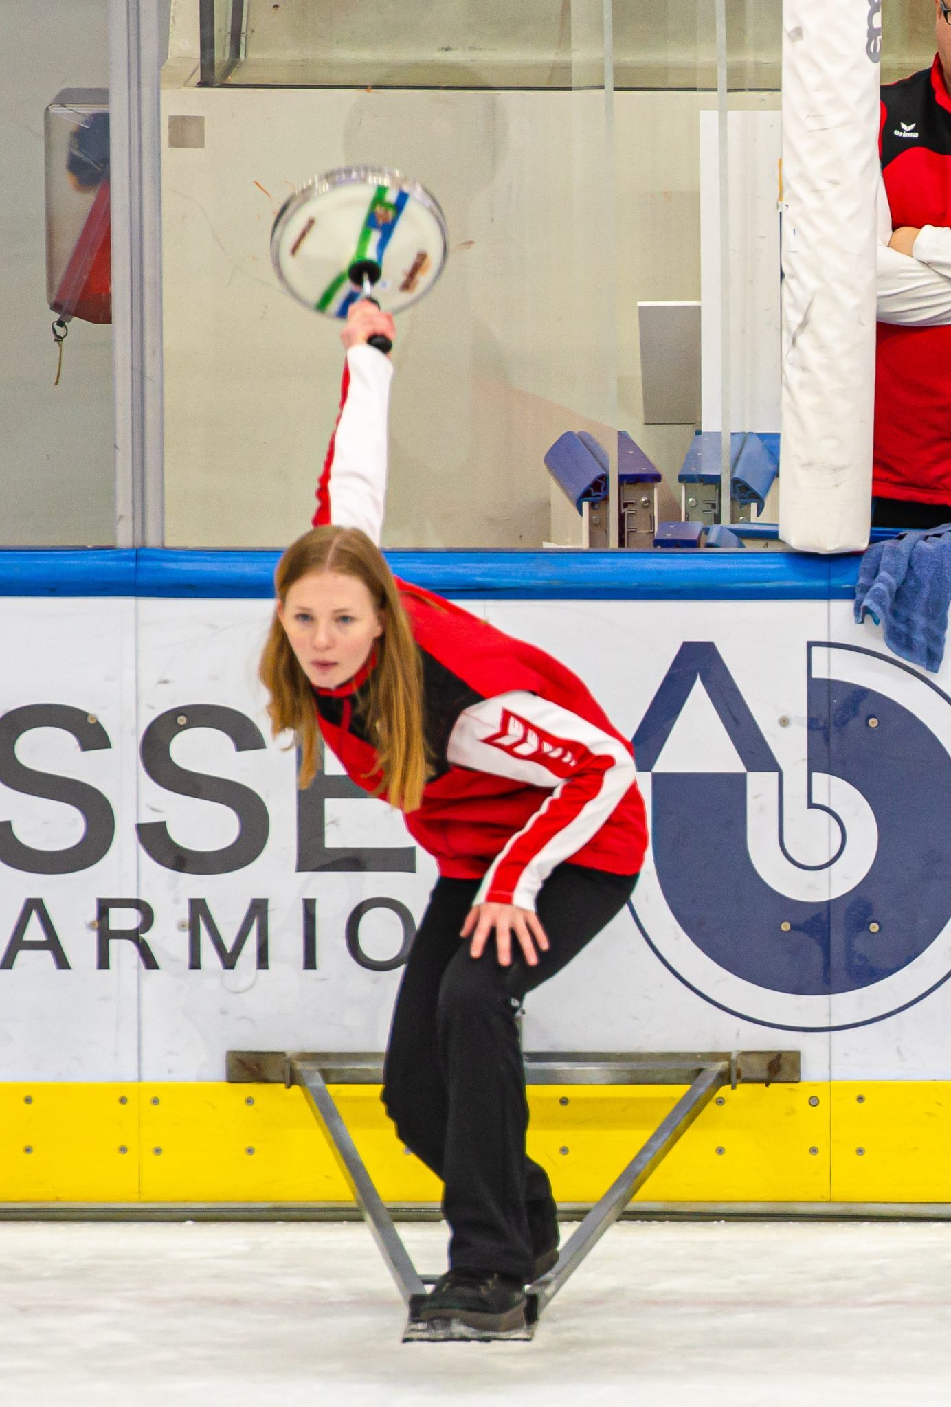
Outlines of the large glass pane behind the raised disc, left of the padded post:
M269 234L345 165L422 182L450 232L398 321L388 546L650 547L660 522L710 522L681 474L720 429L725 298L730 429L771 436L764 492L732 516L775 522L779 0L726 7L726 290L715 0L203 15L217 80L177 14L163 91L169 545L279 546L309 516L342 353L279 287ZM615 516L598 485L619 469Z

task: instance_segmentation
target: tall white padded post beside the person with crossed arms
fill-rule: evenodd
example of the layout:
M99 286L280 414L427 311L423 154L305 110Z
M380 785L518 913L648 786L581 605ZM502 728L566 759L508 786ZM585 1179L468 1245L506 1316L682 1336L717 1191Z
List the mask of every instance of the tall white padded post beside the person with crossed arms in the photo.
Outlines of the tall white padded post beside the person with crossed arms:
M782 6L779 536L868 545L881 0Z

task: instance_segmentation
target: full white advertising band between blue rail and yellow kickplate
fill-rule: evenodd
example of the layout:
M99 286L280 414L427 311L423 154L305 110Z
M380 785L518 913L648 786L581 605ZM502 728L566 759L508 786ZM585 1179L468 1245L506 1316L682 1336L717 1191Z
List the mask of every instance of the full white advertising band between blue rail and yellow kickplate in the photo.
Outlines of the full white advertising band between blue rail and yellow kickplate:
M951 663L937 680L907 668L874 626L851 623L848 602L833 606L831 637L823 601L750 601L741 611L716 601L473 605L561 657L626 736L642 734L653 850L633 913L623 910L529 996L529 1045L779 1044L802 1050L806 1078L823 1079L834 1040L838 1078L948 1078ZM347 919L363 900L388 899L419 920L433 864L418 855L415 872L392 872L364 857L362 872L297 871L294 758L266 739L255 681L269 611L262 601L0 601L3 715L73 706L98 719L111 744L80 753L62 729L34 729L18 743L20 761L86 781L115 815L111 850L87 870L0 868L0 961L24 899L42 898L70 962L58 971L49 953L23 951L13 971L0 969L7 1078L221 1079L228 1048L384 1045L400 974L356 961ZM189 726L198 706L235 711L266 746L238 751L219 729ZM167 770L146 775L142 737L166 715L174 764L238 782L266 809L266 840L262 830L260 853L241 868L194 874L136 844L136 820L165 823L177 854L238 834L229 806L176 794ZM910 778L910 798L900 782L882 789L888 768ZM75 808L8 784L0 802L0 820L24 844L62 850L82 839ZM8 854L4 834L0 854ZM324 839L338 848L409 846L401 819L363 798L326 802ZM903 871L889 879L902 846ZM158 971L145 971L124 940L113 944L111 971L96 969L97 898L152 908L145 937ZM207 902L228 946L250 902L264 900L267 968L257 967L252 933L234 971L207 934L201 969L190 969L190 899ZM305 899L317 905L314 971L304 964ZM872 922L874 941L864 937L878 931ZM370 913L364 954L392 955L400 936L391 912ZM34 923L28 938L39 937Z

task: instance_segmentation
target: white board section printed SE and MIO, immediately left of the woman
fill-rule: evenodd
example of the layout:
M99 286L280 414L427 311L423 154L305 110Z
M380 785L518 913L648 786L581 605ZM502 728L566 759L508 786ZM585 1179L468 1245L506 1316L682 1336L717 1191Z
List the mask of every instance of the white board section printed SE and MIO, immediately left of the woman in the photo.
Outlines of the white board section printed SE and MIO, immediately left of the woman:
M218 875L174 874L149 855L139 860L141 889L155 905L155 950L162 971L143 978L142 1069L146 1079L222 1079L229 1048L381 1050L400 972L359 967L345 946L346 920L367 898L405 903L421 919L435 868L421 855L416 874L298 874L297 789L293 751L270 741L257 657L270 619L264 601L142 601L139 653L141 729L169 709L201 702L246 715L267 740L263 750L235 751L224 733L186 730L173 743L181 767L228 777L252 788L269 815L257 860ZM339 771L331 764L332 771ZM181 846L212 848L236 836L234 813L176 796L146 777L139 820L163 820ZM383 802L328 802L333 846L412 846L401 817ZM270 965L257 971L255 934L232 972L224 972L203 937L201 971L189 971L189 899L205 899L231 946L252 899L267 900ZM302 900L317 900L318 968L304 971ZM400 947L394 915L369 916L364 950L388 957Z

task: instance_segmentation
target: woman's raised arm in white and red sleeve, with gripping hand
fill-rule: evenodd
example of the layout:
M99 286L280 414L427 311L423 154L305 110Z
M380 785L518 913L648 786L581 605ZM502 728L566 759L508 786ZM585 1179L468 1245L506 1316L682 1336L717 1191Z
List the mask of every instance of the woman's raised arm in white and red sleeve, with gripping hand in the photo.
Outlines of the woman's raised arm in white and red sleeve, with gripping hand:
M340 340L346 348L340 414L317 485L314 528L339 523L362 528L380 545L387 495L387 416L392 363L367 346L381 332L392 342L395 328L388 312L362 300L350 308Z

